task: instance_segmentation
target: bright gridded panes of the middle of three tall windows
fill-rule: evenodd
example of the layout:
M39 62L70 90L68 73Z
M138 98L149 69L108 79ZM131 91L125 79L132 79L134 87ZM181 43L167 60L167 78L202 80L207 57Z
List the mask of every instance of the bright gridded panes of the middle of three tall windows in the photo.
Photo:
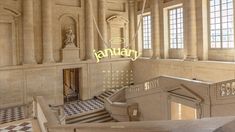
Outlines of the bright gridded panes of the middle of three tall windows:
M184 48L183 38L183 8L178 7L169 10L169 38L171 49Z

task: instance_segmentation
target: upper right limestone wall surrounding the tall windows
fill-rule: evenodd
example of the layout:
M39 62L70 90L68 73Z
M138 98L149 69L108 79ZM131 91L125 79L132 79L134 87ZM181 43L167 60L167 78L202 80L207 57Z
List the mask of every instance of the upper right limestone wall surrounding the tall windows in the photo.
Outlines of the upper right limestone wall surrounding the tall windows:
M207 0L159 0L155 4L153 2L154 0L147 0L145 12L151 13L152 29L157 26L158 28L156 29L160 30L160 33L155 33L156 29L152 31L153 48L150 50L142 48L141 35L139 36L136 47L138 47L139 51L143 52L144 57L151 58L154 53L159 54L158 52L160 51L158 56L164 59L234 61L234 49L210 48L210 18L208 16L209 5ZM136 1L136 15L140 15L142 5L142 0ZM158 7L156 8L156 6ZM184 10L183 49L169 48L168 10L176 6L182 6ZM155 21L155 18L157 18L157 21ZM137 23L139 17L136 17L135 21Z

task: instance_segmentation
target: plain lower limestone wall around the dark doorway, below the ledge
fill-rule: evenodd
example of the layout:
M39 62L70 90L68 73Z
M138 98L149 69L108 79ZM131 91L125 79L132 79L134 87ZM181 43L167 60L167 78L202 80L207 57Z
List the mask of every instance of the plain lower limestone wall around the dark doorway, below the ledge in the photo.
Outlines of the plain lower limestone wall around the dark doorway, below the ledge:
M69 68L80 69L80 96L83 100L89 99L107 89L103 85L103 70L130 71L129 63L127 59L99 64L81 62L1 68L0 108L30 103L33 96L44 96L50 104L63 104L63 69Z

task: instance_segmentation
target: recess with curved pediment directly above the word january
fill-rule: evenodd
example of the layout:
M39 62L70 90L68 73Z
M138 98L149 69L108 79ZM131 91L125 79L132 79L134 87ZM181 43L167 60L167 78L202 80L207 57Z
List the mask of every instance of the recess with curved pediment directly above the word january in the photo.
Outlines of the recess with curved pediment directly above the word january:
M111 48L128 47L128 23L129 21L120 15L114 15L107 19L108 41Z

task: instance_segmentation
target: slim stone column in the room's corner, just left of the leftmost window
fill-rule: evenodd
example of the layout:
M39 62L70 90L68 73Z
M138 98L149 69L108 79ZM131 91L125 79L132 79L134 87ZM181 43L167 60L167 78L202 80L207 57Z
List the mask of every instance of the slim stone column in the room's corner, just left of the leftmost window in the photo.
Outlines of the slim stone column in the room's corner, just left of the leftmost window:
M129 0L129 48L135 49L135 1ZM132 41L133 40L133 41Z

